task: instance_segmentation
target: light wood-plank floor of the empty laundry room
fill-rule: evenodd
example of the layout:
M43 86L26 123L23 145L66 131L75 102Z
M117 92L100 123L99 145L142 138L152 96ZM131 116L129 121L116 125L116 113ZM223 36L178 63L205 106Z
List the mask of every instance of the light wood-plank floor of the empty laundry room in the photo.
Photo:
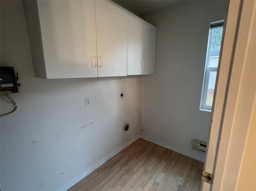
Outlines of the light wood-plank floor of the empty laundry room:
M69 191L198 191L203 163L138 139Z

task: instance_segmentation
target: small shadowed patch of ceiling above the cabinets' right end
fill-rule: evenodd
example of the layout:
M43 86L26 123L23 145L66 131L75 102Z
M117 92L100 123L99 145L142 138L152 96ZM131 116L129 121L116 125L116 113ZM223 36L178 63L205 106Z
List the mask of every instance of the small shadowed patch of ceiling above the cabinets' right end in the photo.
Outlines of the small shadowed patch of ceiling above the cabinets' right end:
M168 7L178 0L113 0L138 16Z

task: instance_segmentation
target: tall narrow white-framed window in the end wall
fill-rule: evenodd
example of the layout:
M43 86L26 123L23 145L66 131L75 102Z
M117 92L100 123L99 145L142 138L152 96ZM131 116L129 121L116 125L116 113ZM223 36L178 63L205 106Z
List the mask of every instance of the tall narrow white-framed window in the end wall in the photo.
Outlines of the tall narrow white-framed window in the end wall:
M212 109L222 32L223 21L211 24L208 38L200 110L211 111Z

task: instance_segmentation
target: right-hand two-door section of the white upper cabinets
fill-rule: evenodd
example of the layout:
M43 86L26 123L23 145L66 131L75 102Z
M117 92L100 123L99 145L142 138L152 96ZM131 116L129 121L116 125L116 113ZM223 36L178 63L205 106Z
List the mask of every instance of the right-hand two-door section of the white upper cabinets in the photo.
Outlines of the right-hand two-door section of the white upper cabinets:
M128 14L127 75L154 74L156 65L156 27Z

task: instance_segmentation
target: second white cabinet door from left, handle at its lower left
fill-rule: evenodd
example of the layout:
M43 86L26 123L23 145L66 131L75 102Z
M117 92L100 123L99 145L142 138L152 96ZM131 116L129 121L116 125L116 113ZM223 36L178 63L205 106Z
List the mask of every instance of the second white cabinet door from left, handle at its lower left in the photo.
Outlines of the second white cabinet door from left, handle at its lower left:
M127 75L127 11L96 0L98 77Z

